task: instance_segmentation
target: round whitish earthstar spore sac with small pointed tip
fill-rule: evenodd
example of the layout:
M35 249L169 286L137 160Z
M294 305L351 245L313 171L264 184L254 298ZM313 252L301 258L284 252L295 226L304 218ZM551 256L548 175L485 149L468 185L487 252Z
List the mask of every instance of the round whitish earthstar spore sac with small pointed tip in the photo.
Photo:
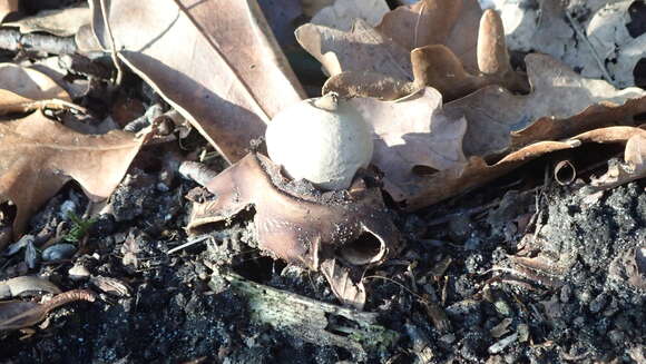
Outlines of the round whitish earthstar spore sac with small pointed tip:
M266 131L267 151L294 179L322 189L346 189L372 159L372 129L336 94L281 111Z

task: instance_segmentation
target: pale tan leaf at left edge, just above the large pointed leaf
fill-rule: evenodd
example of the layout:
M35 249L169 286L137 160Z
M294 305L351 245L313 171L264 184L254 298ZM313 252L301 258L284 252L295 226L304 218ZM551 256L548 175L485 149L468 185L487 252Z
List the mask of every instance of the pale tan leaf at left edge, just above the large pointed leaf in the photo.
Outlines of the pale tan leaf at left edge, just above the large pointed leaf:
M13 63L0 63L0 115L21 112L35 101L60 99L69 101L68 92L49 76Z

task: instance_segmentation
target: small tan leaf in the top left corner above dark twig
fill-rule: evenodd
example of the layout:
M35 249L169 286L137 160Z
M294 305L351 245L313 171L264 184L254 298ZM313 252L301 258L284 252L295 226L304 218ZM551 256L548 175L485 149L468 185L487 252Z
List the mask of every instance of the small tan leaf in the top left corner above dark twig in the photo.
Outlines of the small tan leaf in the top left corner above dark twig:
M71 37L78 32L80 27L89 23L89 8L68 8L43 10L33 17L6 22L3 26L18 27L21 33L42 31L58 37Z

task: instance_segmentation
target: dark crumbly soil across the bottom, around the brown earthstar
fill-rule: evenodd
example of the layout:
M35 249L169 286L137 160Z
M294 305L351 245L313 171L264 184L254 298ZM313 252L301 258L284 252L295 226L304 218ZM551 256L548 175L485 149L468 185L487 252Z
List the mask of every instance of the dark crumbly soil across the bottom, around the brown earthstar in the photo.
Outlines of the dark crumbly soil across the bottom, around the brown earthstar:
M221 266L268 286L335 302L320 274L286 267L253 248L248 219L168 254L187 240L189 205L183 196L194 184L179 177L166 183L159 174L133 170L111 198L112 213L100 215L81 253L39 266L62 291L101 292L89 277L70 278L68 270L82 265L94 277L126 284L129 294L101 293L95 303L56 309L30 336L6 335L1 362L353 360L345 348L317 346L254 323L243 295L226 285L208 285L217 274L209 267ZM407 247L398 259L368 273L365 307L400 336L392 347L370 352L368 362L421 362L423 355L432 363L642 361L646 295L628 282L626 267L633 262L644 274L644 185L633 183L598 198L558 186L510 190L491 199L497 206L472 215L453 211L440 225L437 217L448 205L428 215L401 215ZM482 199L482 194L472 196L469 200ZM32 234L65 220L61 206L74 206L80 215L86 203L68 188L33 218ZM555 265L542 273L527 269L513 260L523 254ZM21 257L1 260L13 267L1 278L20 272ZM433 326L419 299L423 294L446 312L448 328ZM501 323L507 329L495 328ZM517 337L508 346L492 346L512 335Z

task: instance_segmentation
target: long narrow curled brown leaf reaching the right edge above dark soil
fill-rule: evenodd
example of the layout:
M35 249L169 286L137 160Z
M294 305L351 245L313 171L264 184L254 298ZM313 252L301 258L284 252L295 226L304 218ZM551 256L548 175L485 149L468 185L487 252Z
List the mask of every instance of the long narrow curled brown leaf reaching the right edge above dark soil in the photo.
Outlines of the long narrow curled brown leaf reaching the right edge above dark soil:
M546 154L577 148L586 142L626 144L634 136L643 136L644 132L643 129L636 127L606 127L572 136L564 141L538 141L508 154L492 165L481 157L471 157L462 167L440 170L433 175L409 180L404 186L408 196L401 203L408 210L427 207L482 186Z

